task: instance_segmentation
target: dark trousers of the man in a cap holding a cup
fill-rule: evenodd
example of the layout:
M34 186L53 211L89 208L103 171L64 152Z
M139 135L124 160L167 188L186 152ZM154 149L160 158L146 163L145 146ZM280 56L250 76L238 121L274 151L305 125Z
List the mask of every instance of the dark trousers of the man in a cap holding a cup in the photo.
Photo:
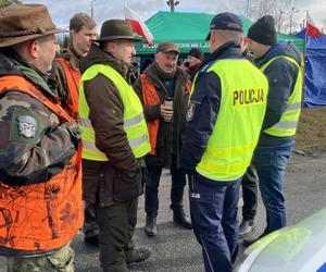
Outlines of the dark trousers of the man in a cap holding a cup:
M186 174L173 163L170 168L172 176L171 206L173 211L184 208L184 190L186 186ZM145 211L150 217L158 217L159 211L159 185L162 174L160 166L147 166L145 177Z

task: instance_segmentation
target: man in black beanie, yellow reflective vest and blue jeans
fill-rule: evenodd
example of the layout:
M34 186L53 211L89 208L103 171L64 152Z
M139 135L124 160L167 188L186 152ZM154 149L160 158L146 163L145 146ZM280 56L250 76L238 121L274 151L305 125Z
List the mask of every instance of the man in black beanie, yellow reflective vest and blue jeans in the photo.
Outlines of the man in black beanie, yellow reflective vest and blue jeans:
M254 151L260 190L267 213L267 224L261 235L264 236L287 224L284 182L301 111L301 58L291 42L277 44L275 22L271 15L258 20L249 28L248 38L248 49L266 75L271 90L262 134Z

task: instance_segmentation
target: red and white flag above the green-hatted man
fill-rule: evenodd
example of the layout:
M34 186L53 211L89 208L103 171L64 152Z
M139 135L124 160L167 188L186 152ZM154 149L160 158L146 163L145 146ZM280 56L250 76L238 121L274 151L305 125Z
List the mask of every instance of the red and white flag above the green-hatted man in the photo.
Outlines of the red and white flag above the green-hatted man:
M147 25L140 20L140 17L128 7L125 5L125 18L130 24L133 30L138 35L142 36L146 41L152 46L153 45L153 35Z

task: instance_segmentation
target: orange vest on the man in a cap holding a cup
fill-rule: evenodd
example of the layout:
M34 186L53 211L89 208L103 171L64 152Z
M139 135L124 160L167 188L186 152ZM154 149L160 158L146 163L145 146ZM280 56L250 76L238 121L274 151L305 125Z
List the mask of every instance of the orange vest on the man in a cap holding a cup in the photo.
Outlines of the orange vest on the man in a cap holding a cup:
M142 86L142 99L145 104L159 104L160 98L158 95L158 91L155 89L155 86L148 81L146 74L140 75L141 79L141 86ZM190 94L191 91L191 83L187 82L187 90ZM150 143L151 143L151 151L149 154L155 154L156 153L156 140L158 140L158 132L159 132L159 123L160 120L155 119L154 121L147 122L147 127L150 136Z

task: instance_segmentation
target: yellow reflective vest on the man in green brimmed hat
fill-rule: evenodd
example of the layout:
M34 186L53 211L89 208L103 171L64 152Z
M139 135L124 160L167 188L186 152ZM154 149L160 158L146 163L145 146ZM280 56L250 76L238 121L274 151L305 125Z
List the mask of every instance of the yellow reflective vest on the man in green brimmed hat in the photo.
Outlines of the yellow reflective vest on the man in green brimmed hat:
M105 153L96 147L95 131L88 119L89 107L84 92L84 82L92 79L98 74L110 78L122 97L124 104L124 131L127 134L127 139L135 157L140 158L147 154L151 148L142 106L138 96L131 86L128 85L122 75L113 67L110 65L95 64L90 66L80 78L78 122L83 132L83 159L93 161L109 160ZM114 129L114 127L108 127L108 129Z

